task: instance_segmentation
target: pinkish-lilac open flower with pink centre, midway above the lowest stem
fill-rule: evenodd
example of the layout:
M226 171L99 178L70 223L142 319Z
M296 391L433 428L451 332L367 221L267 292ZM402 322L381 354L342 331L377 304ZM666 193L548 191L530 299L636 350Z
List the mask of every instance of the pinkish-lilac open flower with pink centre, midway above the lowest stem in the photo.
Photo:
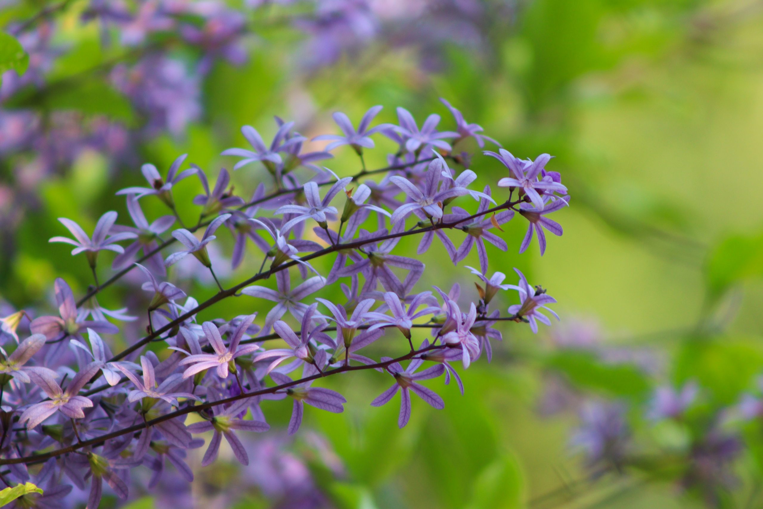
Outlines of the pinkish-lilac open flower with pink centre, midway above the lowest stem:
M182 361L179 362L180 366L193 364L193 366L189 366L185 369L183 378L187 379L198 372L211 368L217 370L217 376L221 379L227 379L229 371L235 374L237 372L235 359L256 352L256 350L259 350L260 348L260 346L256 344L239 346L244 333L246 333L246 329L249 328L256 316L256 313L250 314L246 319L241 321L238 327L236 327L236 330L233 331L233 334L231 334L228 346L225 346L225 343L223 343L223 338L220 335L220 330L217 329L217 325L212 322L204 322L204 324L201 324L201 328L204 330L204 336L207 337L207 340L214 349L214 353L195 354L182 359Z

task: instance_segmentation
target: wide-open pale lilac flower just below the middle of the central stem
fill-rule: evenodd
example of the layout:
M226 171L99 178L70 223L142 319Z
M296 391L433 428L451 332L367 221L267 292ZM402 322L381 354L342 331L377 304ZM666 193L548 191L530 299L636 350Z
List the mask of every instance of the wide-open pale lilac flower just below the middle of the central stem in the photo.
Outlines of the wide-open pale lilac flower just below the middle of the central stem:
M247 286L241 290L243 295L250 297L264 298L268 301L276 302L275 306L265 317L265 325L262 326L262 333L268 333L270 327L275 321L281 318L286 311L290 312L297 320L301 321L307 311L307 304L300 302L307 295L317 292L326 284L326 279L321 275L316 275L302 282L295 288L291 288L291 276L288 270L280 270L275 273L276 289L272 290L264 286Z

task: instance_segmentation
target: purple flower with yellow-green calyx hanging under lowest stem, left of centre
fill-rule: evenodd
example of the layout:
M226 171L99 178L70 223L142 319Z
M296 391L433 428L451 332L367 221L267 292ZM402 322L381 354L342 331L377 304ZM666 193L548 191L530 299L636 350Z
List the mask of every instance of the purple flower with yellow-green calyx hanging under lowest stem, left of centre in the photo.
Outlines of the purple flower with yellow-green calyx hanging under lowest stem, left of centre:
M207 452L204 453L204 458L201 459L201 466L208 466L217 459L217 452L220 450L222 437L225 437L225 440L230 445L230 449L233 449L236 459L242 465L249 465L249 455L246 454L243 443L241 443L234 431L256 431L257 433L262 433L270 429L270 426L261 420L244 420L237 417L237 414L240 414L242 411L246 412L249 404L250 401L246 398L234 402L224 410L221 410L221 407L215 407L214 416L210 420L188 426L188 430L191 433L214 431L212 440L210 440L207 447Z

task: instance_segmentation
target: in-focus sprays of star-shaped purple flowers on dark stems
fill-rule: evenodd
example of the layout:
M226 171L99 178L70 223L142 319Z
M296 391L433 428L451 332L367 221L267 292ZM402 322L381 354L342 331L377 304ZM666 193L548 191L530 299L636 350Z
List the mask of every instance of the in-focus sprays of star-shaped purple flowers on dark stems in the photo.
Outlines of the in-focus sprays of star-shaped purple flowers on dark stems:
M180 478L191 481L185 455L204 439L209 440L204 466L215 461L222 439L246 465L251 454L242 437L270 427L259 406L262 399L290 398L287 429L297 433L304 416L314 411L343 411L346 399L320 386L325 378L364 369L394 379L370 403L386 404L400 392L398 424L404 427L414 411L411 393L433 408L444 406L436 385L427 387L423 381L444 376L448 384L455 378L463 392L456 366L468 369L483 353L491 358L491 339L501 340L496 324L528 324L534 332L538 322L550 324L544 312L553 314L547 306L554 299L531 286L519 270L517 285L504 284L502 272L488 275L492 247L483 241L507 250L504 240L488 230L524 217L528 205L533 210L566 205L566 188L558 176L549 177L547 156L534 163L501 156L513 165L508 179L515 179L514 169L521 168L522 180L510 180L506 192L503 181L496 192L491 185L481 191L470 188L478 176L456 166L453 146L465 137L479 136L480 144L491 140L448 106L459 130L437 130L436 114L419 128L403 108L398 108L399 124L375 127L371 124L381 108L371 108L357 130L345 115L336 114L342 134L321 136L332 143L318 153L302 152L305 139L291 122L278 121L269 145L253 127L245 127L251 150L224 154L241 158L234 166L239 172L248 171L240 168L250 163L266 169L270 194L253 173L253 198L233 195L224 169L211 190L204 171L198 166L183 169L181 156L166 175L143 165L148 186L117 193L127 197L134 227L116 224L117 213L108 212L89 236L62 218L74 238L51 241L73 244L72 254L86 253L95 286L76 301L66 281L56 279L57 314L36 312L32 335L24 339L16 332L19 314L3 321L0 465L8 467L8 478L43 482L47 492L61 498L66 498L69 481L79 489L89 483L89 507L96 507L104 481L116 495L127 497L136 469L153 472L152 485L170 475L165 459ZM312 164L330 158L333 150L353 150L362 159L364 150L375 146L375 136L399 144L389 156L390 166L372 172L381 176L378 180L367 175L365 163L362 172L341 178ZM199 208L197 224L185 227L175 210L175 186L189 185L193 180L186 177L194 174L204 194L193 201ZM170 214L149 221L140 207L148 200L157 200ZM259 214L258 207L269 214ZM262 259L258 272L227 288L215 275L221 266L211 254L212 247L220 248L223 225L233 232L233 266L242 260L253 260L247 265L256 266ZM172 236L160 240L159 234L168 230ZM410 236L421 238L419 255L427 253L436 237L456 265L478 246L481 269L466 267L478 278L471 301L457 285L447 293L420 288L426 257L398 248L399 240ZM253 243L246 243L247 238ZM454 241L462 247L456 250ZM103 251L118 253L111 270L121 271L100 284L98 273L109 269L102 263L107 256ZM322 257L334 259L330 273L321 273L314 263ZM188 296L191 287L176 277L175 268L186 262L211 273L219 288L213 297L198 302ZM98 293L133 271L143 276L143 313L137 308L109 311L95 302ZM345 303L308 300L340 282ZM517 292L517 303L502 303L504 292L511 291ZM251 306L267 304L268 311L197 321L199 311L233 297ZM224 313L223 308L216 310ZM118 334L124 333L118 323L136 319L128 311L145 317L147 334L113 353ZM283 346L272 347L277 340ZM146 348L152 343L153 348ZM378 348L398 353L381 356ZM50 469L41 479L26 468L39 462Z

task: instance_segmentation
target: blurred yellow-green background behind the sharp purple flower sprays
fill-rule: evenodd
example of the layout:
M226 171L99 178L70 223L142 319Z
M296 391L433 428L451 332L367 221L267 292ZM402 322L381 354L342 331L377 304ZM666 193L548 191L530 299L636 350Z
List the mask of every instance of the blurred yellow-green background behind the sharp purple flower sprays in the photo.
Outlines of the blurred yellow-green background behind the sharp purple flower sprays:
M0 24L13 27L53 3L0 2ZM114 192L142 184L141 163L164 170L188 153L214 175L233 164L219 153L243 146L240 126L251 124L267 139L275 132L274 115L294 120L312 137L334 132L333 111L356 119L380 104L381 121L395 121L394 108L404 106L417 119L442 114L446 129L452 119L439 98L447 98L516 156L555 156L549 169L562 172L572 196L571 206L554 217L565 233L549 237L545 256L536 243L517 253L525 229L519 220L504 228L509 251L491 251L491 271L513 279L518 267L558 299L561 324L538 335L504 324L492 362L481 359L465 373L466 395L454 385L441 390L443 411L414 401L404 430L396 426L396 402L368 404L388 379L333 380L329 386L349 401L344 414L308 411L307 432L294 440L278 431L259 437L246 470L235 462L201 469L197 458L194 504L498 509L707 503L675 482L660 482L660 475L589 478L569 438L581 398L626 401L638 413L659 385L698 381L700 404L712 409L755 391L763 372L763 285L757 279L763 273L763 2L387 0L370 2L367 31L337 28L336 51L325 49L320 37L327 36L314 26L295 23L295 12L311 15L301 4L263 9L231 2L247 13L246 58L231 63L215 56L204 74L187 67L178 77L186 104L177 107L174 123L151 129L150 115L113 81L115 67L136 62L134 49L106 41L98 22L82 21L89 2L67 3L38 25L50 27L48 49L38 55L45 59L39 82L19 93L7 74L7 93L0 96L0 295L14 308L50 302L56 276L76 295L91 281L84 259L47 243L65 234L57 217L85 230L107 210L127 221ZM27 50L29 72L37 72L34 48ZM198 60L182 47L169 54L179 63ZM14 115L29 111L43 118L67 111L73 124L93 130L105 118L123 126L119 133L130 143L122 153L85 143L55 163L40 160L40 147L12 143L37 126L14 124ZM377 138L369 168L385 166L385 153L394 150ZM340 175L359 169L349 149L338 150L326 166ZM471 168L479 187L505 173L481 155ZM245 198L264 179L265 170L253 166L234 175ZM175 188L179 213L189 220L195 212L183 203L199 191L193 179ZM164 213L160 203L143 207L154 217ZM232 242L222 230L218 237L217 255L225 259ZM414 250L416 242L404 241L401 249ZM218 274L224 284L238 281L259 261ZM459 282L463 292L473 292L468 271L454 269L439 246L423 261L420 286ZM214 285L200 275L192 293L201 300ZM321 296L343 301L338 288ZM140 308L142 298L125 286L99 299L106 308L124 302ZM510 295L500 298L501 308L514 303ZM239 298L200 318L232 317L261 305ZM137 337L139 326L131 333ZM378 346L378 352L389 348ZM271 424L288 422L288 405L262 406ZM671 433L677 432L644 420L634 434L637 442L666 443ZM763 503L761 437L753 430L745 438L750 446L734 463L735 481L722 504ZM230 451L223 454L230 458ZM163 495L137 494L130 504L160 507L173 493L166 487Z

